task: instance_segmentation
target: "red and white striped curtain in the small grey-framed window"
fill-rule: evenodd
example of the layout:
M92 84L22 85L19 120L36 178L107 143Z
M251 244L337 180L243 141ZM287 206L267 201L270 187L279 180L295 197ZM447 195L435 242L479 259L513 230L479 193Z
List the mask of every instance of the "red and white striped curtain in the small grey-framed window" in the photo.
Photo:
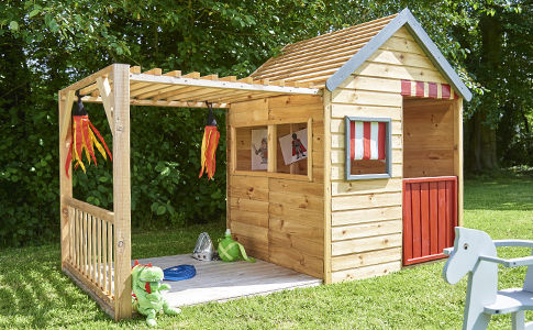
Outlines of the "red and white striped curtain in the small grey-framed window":
M385 160L386 123L378 121L349 122L349 158Z

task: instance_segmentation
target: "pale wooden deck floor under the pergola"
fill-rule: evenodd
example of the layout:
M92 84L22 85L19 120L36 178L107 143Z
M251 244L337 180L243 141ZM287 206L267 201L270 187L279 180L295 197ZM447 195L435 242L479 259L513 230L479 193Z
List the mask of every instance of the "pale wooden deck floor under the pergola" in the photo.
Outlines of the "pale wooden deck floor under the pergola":
M234 263L207 262L192 258L190 254L138 260L141 264L149 262L163 270L181 264L196 267L197 275L190 279L164 280L171 286L169 292L163 293L163 296L171 306L225 301L322 284L322 279L260 260L255 263L244 261Z

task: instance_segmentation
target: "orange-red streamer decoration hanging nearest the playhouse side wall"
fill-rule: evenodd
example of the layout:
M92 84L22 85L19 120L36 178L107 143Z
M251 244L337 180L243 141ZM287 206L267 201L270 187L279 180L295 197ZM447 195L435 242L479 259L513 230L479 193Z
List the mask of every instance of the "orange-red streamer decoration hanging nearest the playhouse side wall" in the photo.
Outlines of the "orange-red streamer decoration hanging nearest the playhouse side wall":
M213 106L206 102L209 108L208 122L206 123L206 130L203 132L202 140L202 154L201 154L201 165L199 177L202 177L203 173L208 175L208 178L212 179L214 176L215 168L215 152L219 145L220 132L216 128L216 120L214 120Z

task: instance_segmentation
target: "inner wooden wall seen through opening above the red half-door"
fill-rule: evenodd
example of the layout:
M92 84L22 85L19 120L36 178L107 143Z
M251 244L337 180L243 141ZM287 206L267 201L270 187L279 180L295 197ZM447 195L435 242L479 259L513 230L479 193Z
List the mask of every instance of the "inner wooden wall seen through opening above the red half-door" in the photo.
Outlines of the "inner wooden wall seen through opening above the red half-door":
M403 177L455 175L453 102L403 100Z

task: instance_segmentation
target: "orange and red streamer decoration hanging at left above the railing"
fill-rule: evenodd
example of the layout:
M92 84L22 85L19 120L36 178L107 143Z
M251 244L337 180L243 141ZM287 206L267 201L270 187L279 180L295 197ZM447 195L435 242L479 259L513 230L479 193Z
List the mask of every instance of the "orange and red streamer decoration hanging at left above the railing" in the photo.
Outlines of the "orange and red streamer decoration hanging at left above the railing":
M79 95L79 90L76 91L76 97L78 98L78 107L76 109L73 109L73 131L70 134L70 146L67 155L67 161L65 162L65 173L67 174L67 177L70 162L74 162L76 164L75 168L78 168L79 166L81 167L84 173L86 172L82 160L84 151L89 165L92 158L92 161L95 162L95 166L97 166L95 146L100 152L103 160L107 160L106 152L108 152L109 158L111 160L111 162L113 161L113 157L111 156L106 141L89 120L87 110L85 110L84 103L81 102L81 96ZM98 140L100 140L101 143Z

